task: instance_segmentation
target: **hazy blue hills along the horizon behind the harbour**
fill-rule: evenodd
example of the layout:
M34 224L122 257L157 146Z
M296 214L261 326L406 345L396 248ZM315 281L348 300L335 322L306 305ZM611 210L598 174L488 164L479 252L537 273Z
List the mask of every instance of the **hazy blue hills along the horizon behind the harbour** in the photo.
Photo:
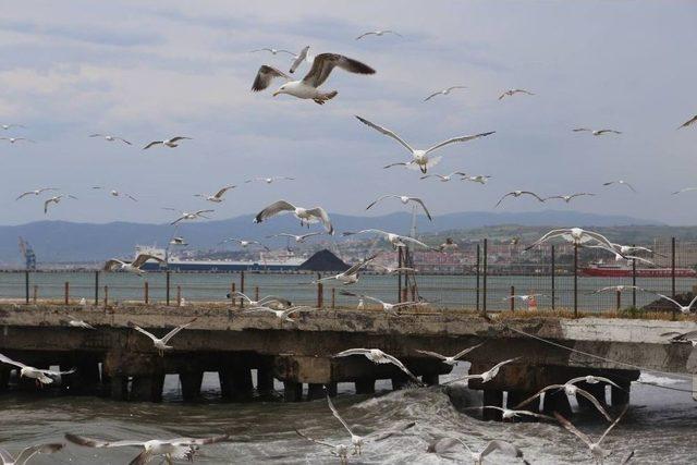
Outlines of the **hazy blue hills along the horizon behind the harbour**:
M408 212L381 217L352 217L332 215L332 221L341 240L342 231L376 228L398 233L407 233L412 222ZM522 227L622 227L632 224L669 228L653 221L623 216L583 213L577 211L546 210L528 213L510 212L460 212L442 215L428 221L417 217L419 233L439 233L453 230L472 230L503 224ZM318 227L314 227L318 228ZM178 235L184 236L192 247L215 248L225 237L235 236L265 241L270 245L281 245L284 241L270 241L266 236L277 232L297 233L298 221L292 216L273 218L261 224L254 224L252 216L228 220L189 222L179 228ZM106 224L74 223L65 221L37 221L16 227L0 227L0 262L19 264L17 237L22 236L34 247L39 262L96 261L110 257L130 257L136 244L164 246L173 234L169 224L143 224L113 222Z

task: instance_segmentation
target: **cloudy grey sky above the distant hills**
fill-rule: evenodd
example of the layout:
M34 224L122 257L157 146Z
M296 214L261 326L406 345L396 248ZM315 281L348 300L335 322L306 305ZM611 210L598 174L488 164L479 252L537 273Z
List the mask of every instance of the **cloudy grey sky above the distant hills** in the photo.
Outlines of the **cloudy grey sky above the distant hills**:
M508 211L574 208L695 224L697 3L541 1L52 1L15 2L0 19L0 122L36 144L2 140L2 224L62 219L163 222L160 207L207 207L192 196L256 175L294 183L242 185L215 217L254 213L285 198L330 212L364 213L384 193L423 196L435 215L490 210L514 188L543 195L596 192L571 207L511 200ZM369 29L404 35L354 38ZM260 47L331 51L364 61L374 76L335 72L325 106L253 94L260 64L289 66ZM304 74L306 69L302 69ZM423 98L451 85L468 89ZM537 95L498 101L511 87ZM419 181L381 167L406 161L394 140L359 114L428 147L463 134L497 134L444 148L433 172L490 174L491 182ZM621 136L572 133L610 126ZM110 132L133 147L91 139ZM187 135L178 149L143 151ZM602 182L626 179L638 194ZM140 203L90 191L133 193ZM39 186L81 197L45 217ZM384 204L375 213L399 209Z

